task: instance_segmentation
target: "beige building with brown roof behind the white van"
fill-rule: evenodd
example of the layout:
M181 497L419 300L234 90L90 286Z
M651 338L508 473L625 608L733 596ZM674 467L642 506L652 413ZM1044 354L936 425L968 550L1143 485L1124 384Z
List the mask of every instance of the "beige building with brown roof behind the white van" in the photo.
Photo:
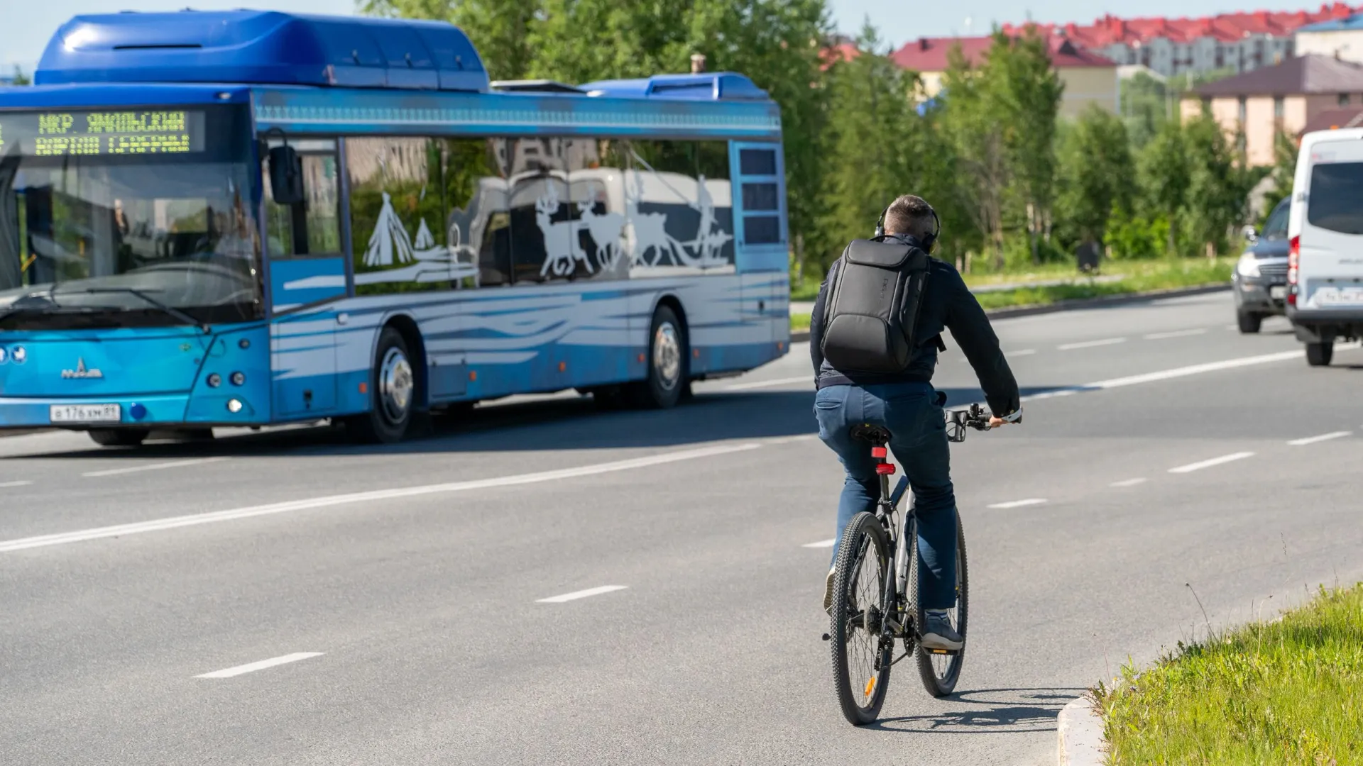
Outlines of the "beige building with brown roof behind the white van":
M1272 165L1278 132L1295 138L1317 114L1358 104L1363 65L1313 55L1199 86L1183 97L1180 114L1210 114L1228 136L1243 135L1250 165Z

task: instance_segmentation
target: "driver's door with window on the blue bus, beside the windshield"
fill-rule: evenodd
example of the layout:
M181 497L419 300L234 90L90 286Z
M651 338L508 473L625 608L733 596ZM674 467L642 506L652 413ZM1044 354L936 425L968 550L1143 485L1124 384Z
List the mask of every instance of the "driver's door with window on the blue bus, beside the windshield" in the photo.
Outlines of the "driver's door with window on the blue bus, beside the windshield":
M337 331L348 319L334 307L348 292L335 140L296 140L289 146L303 166L303 203L275 203L269 158L263 168L273 316L270 367L278 418L335 410Z

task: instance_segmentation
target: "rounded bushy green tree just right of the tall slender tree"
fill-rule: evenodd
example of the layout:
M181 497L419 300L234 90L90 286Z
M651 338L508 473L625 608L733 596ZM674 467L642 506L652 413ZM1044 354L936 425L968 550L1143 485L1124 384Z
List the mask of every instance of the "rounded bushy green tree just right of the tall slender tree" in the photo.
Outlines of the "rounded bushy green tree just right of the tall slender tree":
M1060 142L1058 218L1074 241L1101 243L1112 210L1129 211L1134 162L1122 119L1090 105Z

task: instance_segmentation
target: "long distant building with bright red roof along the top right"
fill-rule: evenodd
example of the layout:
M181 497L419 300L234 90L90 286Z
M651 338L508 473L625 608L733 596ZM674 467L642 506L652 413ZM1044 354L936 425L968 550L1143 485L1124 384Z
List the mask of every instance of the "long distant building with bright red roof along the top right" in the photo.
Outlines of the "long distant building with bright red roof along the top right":
M1037 25L1047 35L1070 41L1122 65L1139 64L1164 75L1232 68L1247 72L1293 56L1296 30L1347 19L1363 7L1345 3L1317 11L1249 11L1216 16L1134 18L1105 15L1090 25ZM1022 27L1005 25L1015 34Z

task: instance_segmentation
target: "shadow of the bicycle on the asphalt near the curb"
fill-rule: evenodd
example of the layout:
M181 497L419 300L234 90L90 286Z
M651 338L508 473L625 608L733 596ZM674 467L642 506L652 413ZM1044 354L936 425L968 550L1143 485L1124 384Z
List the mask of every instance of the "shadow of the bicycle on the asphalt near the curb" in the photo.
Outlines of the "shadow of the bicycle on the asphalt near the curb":
M889 732L980 733L1054 732L1055 720L1082 688L987 688L966 691L942 702L951 710L930 716L882 718L867 726Z

